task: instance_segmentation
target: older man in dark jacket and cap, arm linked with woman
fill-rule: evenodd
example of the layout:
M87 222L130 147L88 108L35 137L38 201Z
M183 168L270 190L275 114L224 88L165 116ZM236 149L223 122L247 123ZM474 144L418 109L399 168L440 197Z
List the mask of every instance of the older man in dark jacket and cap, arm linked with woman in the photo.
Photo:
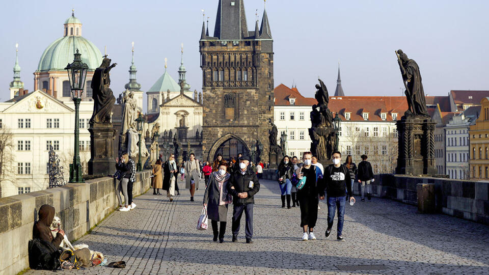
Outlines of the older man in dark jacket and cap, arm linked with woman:
M239 224L244 211L246 215L246 243L253 243L253 196L260 190L260 182L251 168L248 168L250 158L242 156L239 158L239 169L231 174L228 191L233 195L233 242L238 240Z

